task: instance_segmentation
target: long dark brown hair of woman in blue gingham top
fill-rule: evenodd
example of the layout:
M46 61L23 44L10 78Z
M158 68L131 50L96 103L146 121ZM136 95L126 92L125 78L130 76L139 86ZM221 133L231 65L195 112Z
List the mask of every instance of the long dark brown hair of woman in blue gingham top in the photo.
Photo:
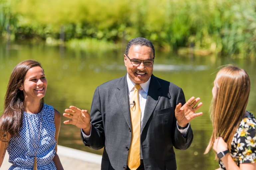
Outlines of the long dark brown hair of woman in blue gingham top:
M9 133L12 137L19 136L25 111L24 94L19 87L24 83L28 70L36 66L42 68L38 61L26 60L13 69L4 98L4 113L0 117L0 137L4 133ZM44 103L44 98L41 99L41 102Z

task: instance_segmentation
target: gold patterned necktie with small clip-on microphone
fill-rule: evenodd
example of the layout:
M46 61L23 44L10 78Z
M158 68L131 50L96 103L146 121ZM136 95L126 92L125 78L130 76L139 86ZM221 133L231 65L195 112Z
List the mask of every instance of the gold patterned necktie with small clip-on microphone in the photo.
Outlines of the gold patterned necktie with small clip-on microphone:
M140 119L141 110L139 104L139 88L140 85L134 86L131 97L131 123L132 123L132 140L129 149L127 165L131 170L136 170L140 166Z

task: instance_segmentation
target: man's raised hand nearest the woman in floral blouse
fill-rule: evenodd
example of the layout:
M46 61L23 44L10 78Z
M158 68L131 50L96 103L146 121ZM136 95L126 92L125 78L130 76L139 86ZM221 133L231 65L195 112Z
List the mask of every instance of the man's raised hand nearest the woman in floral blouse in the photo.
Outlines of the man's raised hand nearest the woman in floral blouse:
M191 97L182 107L181 103L176 106L175 117L179 126L185 127L190 121L192 121L192 119L203 114L202 112L195 113L195 111L202 106L201 102L195 106L199 100L199 97L196 99Z

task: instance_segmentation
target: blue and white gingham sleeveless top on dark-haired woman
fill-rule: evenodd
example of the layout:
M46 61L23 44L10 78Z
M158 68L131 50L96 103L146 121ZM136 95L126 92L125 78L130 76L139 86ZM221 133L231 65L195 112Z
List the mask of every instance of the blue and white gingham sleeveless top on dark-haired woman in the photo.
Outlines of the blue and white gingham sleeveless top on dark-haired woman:
M41 116L42 125L38 144ZM38 114L24 112L22 123L20 137L11 138L7 146L9 162L13 164L9 170L33 170L35 158L34 147L37 147L37 144L38 170L57 170L53 162L56 146L53 107L44 104L42 111ZM36 146L34 146L32 134L34 135Z

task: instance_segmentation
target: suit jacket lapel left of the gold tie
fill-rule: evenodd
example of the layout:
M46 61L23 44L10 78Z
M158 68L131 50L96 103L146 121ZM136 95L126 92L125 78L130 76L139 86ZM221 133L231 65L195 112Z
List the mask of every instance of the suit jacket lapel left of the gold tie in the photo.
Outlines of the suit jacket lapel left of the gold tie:
M129 96L128 96L128 85L126 81L126 75L120 80L119 84L116 85L117 87L116 99L121 109L121 114L124 115L124 118L128 126L131 128L131 116L130 116L130 108L129 108Z

